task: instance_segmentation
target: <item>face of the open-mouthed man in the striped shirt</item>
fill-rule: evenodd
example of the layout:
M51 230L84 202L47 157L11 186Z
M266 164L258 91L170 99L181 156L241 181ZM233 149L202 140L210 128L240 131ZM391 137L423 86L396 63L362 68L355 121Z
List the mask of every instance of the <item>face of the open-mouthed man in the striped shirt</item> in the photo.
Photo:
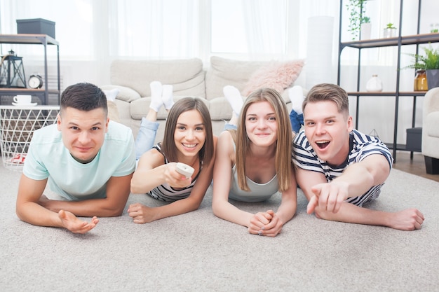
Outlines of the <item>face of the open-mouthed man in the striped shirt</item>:
M340 113L332 101L309 102L304 109L305 135L318 158L341 165L349 154L352 117Z

